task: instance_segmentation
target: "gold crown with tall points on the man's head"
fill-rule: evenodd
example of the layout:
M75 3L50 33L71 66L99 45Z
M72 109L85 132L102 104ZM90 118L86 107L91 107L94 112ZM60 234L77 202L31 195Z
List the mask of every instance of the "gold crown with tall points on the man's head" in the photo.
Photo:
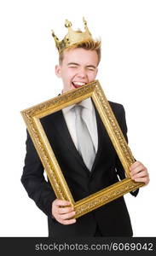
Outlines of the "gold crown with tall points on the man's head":
M72 23L69 20L65 21L65 26L68 28L68 33L66 34L65 38L62 41L55 36L55 32L52 31L52 36L55 38L55 46L58 49L59 53L64 49L72 46L73 44L78 44L87 40L93 40L91 33L87 26L87 21L84 20L84 32L81 31L73 31L72 30Z

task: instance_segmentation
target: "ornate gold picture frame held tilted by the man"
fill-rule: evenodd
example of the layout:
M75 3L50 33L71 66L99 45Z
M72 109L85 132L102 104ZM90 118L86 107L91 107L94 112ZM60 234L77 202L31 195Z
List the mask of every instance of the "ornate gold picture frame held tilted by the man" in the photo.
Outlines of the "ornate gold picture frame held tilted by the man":
M101 189L80 201L74 201L71 191L68 188L66 180L61 172L61 168L55 158L53 149L51 148L48 138L43 131L40 119L50 113L54 113L89 97L91 97L95 103L95 107L101 116L101 120L105 125L107 133L118 154L118 158L124 166L124 171L127 177L124 178L124 180L114 183L105 189ZM86 84L76 90L70 90L61 96L52 98L49 101L40 103L32 108L27 108L26 110L21 111L21 114L26 122L27 130L32 137L32 142L38 151L38 155L43 163L45 171L47 172L56 197L71 202L71 205L76 211L75 218L78 218L87 212L91 212L95 208L101 207L104 204L107 204L108 202L144 185L144 183L136 183L130 178L130 165L134 163L135 160L98 80L90 84Z

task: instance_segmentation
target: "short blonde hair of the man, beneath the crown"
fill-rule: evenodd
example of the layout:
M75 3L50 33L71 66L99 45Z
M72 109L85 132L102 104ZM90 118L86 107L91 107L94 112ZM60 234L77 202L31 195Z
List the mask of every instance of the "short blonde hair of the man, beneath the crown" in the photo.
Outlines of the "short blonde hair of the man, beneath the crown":
M91 49L91 50L95 50L98 56L98 64L101 61L101 40L86 40L86 41L82 41L79 42L78 44L72 44L72 46L66 48L65 50L69 50L69 49L76 49L76 48L83 48L83 49ZM59 63L61 65L62 61L63 61L63 55L64 51L62 51L59 54Z

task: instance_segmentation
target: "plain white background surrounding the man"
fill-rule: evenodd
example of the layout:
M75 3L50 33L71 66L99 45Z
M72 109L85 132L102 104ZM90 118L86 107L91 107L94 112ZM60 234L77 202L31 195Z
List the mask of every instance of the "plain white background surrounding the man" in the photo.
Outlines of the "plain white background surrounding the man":
M151 181L134 198L125 195L134 236L156 235L155 86L156 1L3 0L0 2L0 236L48 236L47 218L20 183L26 125L20 110L57 96L57 52L65 19L101 36L99 79L107 99L124 105L130 148ZM115 214L115 212L114 212Z

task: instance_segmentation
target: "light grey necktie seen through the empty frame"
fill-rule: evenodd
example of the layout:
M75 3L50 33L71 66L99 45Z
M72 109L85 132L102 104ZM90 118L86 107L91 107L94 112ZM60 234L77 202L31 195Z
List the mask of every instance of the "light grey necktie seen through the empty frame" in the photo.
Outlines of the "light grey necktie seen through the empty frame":
M84 106L82 105L75 106L78 152L81 154L85 165L91 171L91 167L95 160L95 147L90 137L90 131L88 130L82 116L83 108Z

